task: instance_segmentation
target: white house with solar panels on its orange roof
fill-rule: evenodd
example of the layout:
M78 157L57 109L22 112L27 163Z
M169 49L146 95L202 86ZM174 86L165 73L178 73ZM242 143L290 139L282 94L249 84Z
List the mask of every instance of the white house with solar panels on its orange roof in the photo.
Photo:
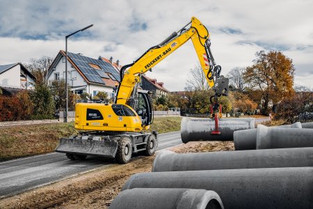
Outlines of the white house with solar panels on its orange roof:
M58 52L48 70L48 81L65 79L65 57L63 50ZM67 52L67 73L67 84L76 94L95 96L104 91L114 98L113 88L120 82L120 72L111 63L71 52Z

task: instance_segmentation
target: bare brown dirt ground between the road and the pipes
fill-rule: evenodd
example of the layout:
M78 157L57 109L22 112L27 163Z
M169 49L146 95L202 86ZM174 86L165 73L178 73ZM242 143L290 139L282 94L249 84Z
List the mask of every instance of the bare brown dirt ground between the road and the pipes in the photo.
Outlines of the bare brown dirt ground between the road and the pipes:
M234 150L232 141L189 142L170 150L195 153ZM122 185L135 173L150 172L152 157L135 157L128 164L106 168L61 180L29 192L0 200L0 208L109 208Z

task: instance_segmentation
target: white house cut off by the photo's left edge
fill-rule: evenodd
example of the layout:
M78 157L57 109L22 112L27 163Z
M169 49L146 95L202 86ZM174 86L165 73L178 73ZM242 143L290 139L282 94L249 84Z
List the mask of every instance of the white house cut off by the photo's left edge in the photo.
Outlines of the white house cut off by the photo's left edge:
M21 63L0 65L0 86L15 89L33 89L35 77Z

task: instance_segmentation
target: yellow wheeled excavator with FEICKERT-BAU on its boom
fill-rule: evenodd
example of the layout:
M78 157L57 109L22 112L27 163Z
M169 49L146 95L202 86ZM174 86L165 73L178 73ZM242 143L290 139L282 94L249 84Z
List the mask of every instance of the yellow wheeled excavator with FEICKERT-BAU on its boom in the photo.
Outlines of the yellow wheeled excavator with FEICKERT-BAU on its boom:
M115 104L77 103L74 127L86 131L62 138L56 152L66 153L71 160L99 155L115 158L119 163L129 162L131 153L153 155L158 146L158 136L155 131L143 132L153 122L153 111L150 93L138 88L141 76L189 39L193 42L207 82L215 91L214 101L211 98L212 115L218 124L221 115L218 97L227 95L228 79L220 76L220 65L216 65L211 54L209 31L192 17L182 29L147 49L134 63L121 68ZM218 130L212 134L218 134Z

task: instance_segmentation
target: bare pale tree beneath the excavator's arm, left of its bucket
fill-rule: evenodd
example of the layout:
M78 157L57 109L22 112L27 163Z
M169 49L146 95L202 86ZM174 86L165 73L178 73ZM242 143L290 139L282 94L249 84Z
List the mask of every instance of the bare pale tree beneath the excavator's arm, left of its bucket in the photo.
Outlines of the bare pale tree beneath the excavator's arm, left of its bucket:
M197 63L195 67L193 67L189 72L190 75L188 75L188 79L186 82L186 86L188 88L201 91L209 89L209 84L207 83L207 79L205 78L206 75L204 75L200 63Z

